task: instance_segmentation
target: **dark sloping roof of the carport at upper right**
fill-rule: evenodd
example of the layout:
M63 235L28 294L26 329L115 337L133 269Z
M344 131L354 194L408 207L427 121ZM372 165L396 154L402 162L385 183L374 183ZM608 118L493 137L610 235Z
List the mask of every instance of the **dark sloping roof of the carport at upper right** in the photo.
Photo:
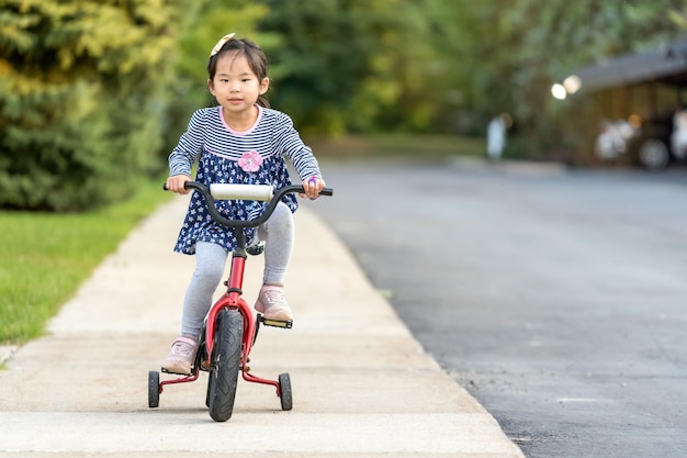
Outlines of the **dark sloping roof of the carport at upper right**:
M687 83L687 38L584 67L574 75L586 93L649 81Z

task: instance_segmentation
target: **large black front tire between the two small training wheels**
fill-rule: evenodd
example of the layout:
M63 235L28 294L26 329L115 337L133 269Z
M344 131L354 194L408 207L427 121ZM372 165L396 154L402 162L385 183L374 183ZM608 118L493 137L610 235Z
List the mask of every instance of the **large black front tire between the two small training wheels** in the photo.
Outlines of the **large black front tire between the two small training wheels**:
M215 422L232 417L238 372L241 364L244 317L237 310L224 309L217 314L213 367L207 381L207 407Z

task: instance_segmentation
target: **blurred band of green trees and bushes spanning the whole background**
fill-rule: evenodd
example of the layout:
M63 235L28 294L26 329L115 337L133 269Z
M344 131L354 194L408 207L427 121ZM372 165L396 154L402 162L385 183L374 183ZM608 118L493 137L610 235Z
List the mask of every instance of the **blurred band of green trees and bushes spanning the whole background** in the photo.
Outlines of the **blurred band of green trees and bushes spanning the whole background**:
M0 206L82 210L161 172L233 31L306 137L484 135L584 148L551 83L682 36L685 0L0 0ZM421 152L420 152L421 153ZM574 155L574 153L572 153ZM574 156L573 156L574 157ZM574 159L573 159L574 160Z

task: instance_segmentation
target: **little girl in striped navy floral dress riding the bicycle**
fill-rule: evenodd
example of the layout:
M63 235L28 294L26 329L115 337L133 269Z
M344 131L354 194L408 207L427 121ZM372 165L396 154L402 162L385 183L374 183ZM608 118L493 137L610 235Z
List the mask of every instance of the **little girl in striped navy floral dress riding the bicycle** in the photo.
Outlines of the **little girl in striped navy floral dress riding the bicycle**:
M317 160L291 119L271 110L264 98L270 79L262 49L251 41L225 35L210 54L207 74L210 92L219 105L200 109L191 116L187 132L169 155L167 188L188 193L183 185L191 179L191 167L199 158L199 182L271 185L279 189L291 185L284 160L288 157L303 182L305 193L301 197L316 199L325 187ZM261 204L218 201L217 208L227 217L247 220L259 214ZM293 319L283 288L296 208L295 197L288 194L263 225L247 234L248 239L264 241L262 288L255 308L266 319ZM216 224L203 198L194 192L174 252L194 254L196 266L183 301L181 335L162 361L164 371L191 372L203 321L235 244L234 230Z

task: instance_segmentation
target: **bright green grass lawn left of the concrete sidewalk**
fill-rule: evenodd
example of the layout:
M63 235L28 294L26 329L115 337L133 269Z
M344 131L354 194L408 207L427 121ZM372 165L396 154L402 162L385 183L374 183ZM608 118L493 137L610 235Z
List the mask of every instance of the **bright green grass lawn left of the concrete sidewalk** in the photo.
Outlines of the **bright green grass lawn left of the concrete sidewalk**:
M43 335L103 258L171 197L161 182L89 213L0 211L0 344L21 345Z

